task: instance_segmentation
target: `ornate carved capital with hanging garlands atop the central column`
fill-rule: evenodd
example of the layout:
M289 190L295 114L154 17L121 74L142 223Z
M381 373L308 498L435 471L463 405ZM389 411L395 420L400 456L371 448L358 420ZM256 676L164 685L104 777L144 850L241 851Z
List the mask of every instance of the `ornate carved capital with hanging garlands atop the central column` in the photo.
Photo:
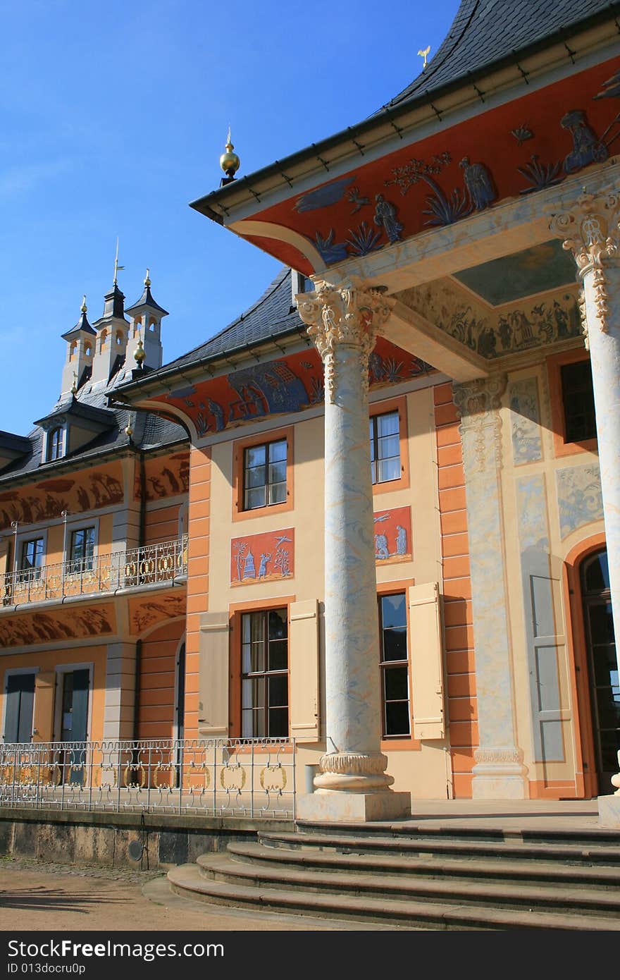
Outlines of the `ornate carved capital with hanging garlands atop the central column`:
M358 349L361 385L368 387L368 358L390 316L393 301L381 290L363 283L333 286L318 282L313 293L296 297L300 317L325 366L325 387L330 401L336 390L335 351L339 346Z

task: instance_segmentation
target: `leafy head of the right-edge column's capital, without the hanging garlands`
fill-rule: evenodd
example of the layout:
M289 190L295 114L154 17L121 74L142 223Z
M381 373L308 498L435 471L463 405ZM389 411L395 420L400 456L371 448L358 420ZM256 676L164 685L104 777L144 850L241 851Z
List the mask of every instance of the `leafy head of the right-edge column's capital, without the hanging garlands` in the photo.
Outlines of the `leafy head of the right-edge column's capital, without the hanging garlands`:
M590 194L584 187L571 208L552 214L549 229L572 252L582 277L601 269L620 254L620 195Z

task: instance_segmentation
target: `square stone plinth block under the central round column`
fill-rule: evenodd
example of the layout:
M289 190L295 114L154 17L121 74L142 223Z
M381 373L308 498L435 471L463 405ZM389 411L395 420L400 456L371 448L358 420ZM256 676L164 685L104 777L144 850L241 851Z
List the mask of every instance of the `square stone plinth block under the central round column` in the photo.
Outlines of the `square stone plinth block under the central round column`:
M316 790L297 798L296 817L314 823L349 823L399 820L411 815L411 794L383 790L378 793L345 793Z

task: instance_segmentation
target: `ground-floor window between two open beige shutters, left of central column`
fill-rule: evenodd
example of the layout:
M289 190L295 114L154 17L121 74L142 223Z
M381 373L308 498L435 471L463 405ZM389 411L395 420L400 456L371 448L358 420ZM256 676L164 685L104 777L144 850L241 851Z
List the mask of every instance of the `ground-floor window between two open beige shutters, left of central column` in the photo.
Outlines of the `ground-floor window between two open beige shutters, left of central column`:
M241 733L286 738L289 733L286 609L241 616Z

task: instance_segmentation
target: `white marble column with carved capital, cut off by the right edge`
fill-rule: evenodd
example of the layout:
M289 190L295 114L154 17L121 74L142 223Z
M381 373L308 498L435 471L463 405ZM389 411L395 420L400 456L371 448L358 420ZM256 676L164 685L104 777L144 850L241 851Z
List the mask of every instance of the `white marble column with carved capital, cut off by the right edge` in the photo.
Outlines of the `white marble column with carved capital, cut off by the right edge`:
M620 195L594 195L584 188L574 206L555 214L549 227L572 253L583 286L581 314L592 365L600 490L620 671ZM620 752L618 764L620 767ZM620 826L620 774L611 781L617 787L613 803Z

